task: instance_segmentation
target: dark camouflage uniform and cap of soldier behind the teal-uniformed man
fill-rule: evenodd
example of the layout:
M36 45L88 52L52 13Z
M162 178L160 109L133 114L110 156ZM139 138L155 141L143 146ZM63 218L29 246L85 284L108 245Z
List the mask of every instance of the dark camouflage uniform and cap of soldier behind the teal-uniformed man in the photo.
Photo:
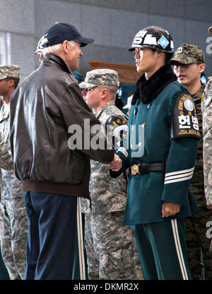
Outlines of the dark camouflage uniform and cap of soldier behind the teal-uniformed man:
M171 63L191 64L193 62L204 63L204 52L196 45L183 44L175 52ZM204 94L205 84L193 95L196 104L196 113L199 122L199 132L202 135L201 99ZM212 279L212 253L209 251L211 240L206 236L206 223L212 220L212 210L206 207L204 193L204 169L203 169L203 137L198 143L194 174L190 190L199 206L199 211L185 218L187 226L187 249L189 256L189 269L193 280ZM201 252L204 262L201 261Z

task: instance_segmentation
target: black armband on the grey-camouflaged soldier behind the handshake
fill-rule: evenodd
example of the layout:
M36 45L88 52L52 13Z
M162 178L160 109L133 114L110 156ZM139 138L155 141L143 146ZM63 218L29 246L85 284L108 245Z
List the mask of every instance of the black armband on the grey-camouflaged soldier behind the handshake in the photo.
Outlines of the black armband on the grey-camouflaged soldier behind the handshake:
M126 136L128 131L128 120L122 115L112 115L107 119L105 128L112 147L118 149L120 147L120 140Z

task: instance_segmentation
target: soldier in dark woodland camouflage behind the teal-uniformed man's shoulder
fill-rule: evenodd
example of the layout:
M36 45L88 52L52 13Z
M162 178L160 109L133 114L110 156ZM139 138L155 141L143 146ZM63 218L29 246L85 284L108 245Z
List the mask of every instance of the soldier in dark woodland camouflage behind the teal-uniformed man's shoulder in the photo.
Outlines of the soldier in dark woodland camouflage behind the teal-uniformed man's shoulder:
M196 45L182 44L177 48L171 64L174 65L175 74L179 83L187 87L192 94L196 113L199 121L201 138L198 144L198 154L190 190L192 191L199 211L185 219L187 225L187 249L189 255L189 269L192 279L212 279L212 254L209 251L210 239L206 235L208 228L206 223L212 219L212 210L206 207L204 193L204 169L203 169L203 137L201 100L204 94L205 84L201 84L201 73L204 72L204 52ZM204 261L201 260L201 253Z

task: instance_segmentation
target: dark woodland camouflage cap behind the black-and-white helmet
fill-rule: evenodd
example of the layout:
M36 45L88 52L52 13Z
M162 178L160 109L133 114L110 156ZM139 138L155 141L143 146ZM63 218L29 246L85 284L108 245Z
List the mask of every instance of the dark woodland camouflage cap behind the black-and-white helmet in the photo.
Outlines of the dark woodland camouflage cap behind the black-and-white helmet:
M193 62L205 63L204 52L196 45L182 44L177 48L175 56L170 61L172 65L176 62L182 64L191 64Z

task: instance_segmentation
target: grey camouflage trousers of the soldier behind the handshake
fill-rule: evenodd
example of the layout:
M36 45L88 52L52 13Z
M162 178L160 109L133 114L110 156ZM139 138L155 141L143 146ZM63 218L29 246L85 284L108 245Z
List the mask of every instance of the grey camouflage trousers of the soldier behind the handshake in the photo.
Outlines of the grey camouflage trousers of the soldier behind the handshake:
M85 213L85 242L90 280L137 279L134 232L130 227L122 225L123 218L124 211Z

